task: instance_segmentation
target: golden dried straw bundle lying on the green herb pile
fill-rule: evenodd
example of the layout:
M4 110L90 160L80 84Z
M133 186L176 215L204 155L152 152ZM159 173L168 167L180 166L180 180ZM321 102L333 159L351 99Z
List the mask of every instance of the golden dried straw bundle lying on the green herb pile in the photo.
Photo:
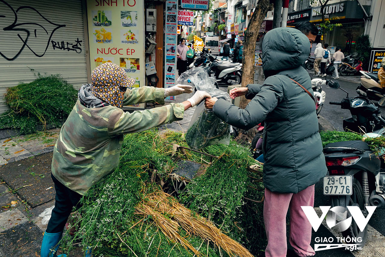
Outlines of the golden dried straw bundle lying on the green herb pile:
M179 226L176 226L172 220L179 223L189 235L199 236L204 240L213 242L217 247L225 250L230 256L253 257L243 245L222 233L213 222L196 213L193 214L191 210L181 205L174 197L161 190L156 190L147 195L147 197L137 205L136 210L138 214L142 213L144 216L156 213L156 216L152 216L152 219L156 222L157 226L161 228L164 235L174 242L179 242L185 248L194 249L187 240L183 242L180 239L180 235L177 234L177 228ZM167 220L165 217L159 218L159 213L169 216L172 220ZM161 220L166 221L162 223ZM173 226L168 224L165 226L164 224L167 222L170 222ZM199 252L196 253L196 250L194 250L192 250L194 254L199 256Z

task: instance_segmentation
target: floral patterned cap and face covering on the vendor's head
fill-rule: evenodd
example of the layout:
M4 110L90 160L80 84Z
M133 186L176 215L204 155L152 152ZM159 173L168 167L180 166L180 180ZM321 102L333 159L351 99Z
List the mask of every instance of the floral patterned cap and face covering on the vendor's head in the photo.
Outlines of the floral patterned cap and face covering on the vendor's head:
M123 106L121 92L135 83L135 79L127 77L124 69L112 62L97 66L91 73L91 81L94 95L118 108Z

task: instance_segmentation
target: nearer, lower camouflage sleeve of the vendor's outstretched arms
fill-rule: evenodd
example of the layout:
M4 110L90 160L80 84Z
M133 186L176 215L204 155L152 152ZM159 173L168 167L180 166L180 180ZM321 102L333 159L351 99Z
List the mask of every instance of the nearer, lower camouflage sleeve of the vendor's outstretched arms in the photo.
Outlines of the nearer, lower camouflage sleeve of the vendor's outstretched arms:
M144 111L128 113L116 108L109 116L107 133L115 136L122 133L144 131L164 123L183 119L184 106L181 103L171 103Z

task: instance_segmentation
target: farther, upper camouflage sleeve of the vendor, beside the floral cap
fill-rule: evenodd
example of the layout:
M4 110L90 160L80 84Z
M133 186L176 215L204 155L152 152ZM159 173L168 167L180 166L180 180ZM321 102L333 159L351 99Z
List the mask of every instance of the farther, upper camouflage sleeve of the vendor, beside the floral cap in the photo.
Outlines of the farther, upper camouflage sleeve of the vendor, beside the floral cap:
M144 86L127 89L124 94L123 105L140 104L142 102L164 104L164 88Z

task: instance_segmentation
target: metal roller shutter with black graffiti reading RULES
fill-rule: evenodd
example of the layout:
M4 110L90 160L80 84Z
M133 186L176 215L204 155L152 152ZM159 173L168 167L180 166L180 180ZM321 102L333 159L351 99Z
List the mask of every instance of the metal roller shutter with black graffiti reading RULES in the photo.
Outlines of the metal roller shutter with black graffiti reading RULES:
M87 83L83 1L4 2L0 2L0 113L8 109L3 99L7 87L31 82L39 74L60 74L75 89Z

